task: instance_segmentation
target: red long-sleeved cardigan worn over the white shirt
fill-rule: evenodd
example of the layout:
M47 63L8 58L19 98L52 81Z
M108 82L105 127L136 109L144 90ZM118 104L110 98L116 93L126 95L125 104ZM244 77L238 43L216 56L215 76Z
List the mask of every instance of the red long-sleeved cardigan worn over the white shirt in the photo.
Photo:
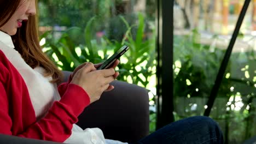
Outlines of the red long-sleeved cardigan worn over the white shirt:
M48 114L37 121L26 83L0 50L0 133L65 141L90 98L83 88L71 83L63 83L58 89L61 100L55 101Z

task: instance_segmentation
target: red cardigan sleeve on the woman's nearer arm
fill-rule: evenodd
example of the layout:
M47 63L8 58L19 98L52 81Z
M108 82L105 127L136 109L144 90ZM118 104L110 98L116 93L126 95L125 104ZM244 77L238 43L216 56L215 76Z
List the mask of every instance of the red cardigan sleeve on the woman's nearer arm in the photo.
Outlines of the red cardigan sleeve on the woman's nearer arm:
M71 135L77 117L90 104L83 88L69 84L60 101L55 101L48 115L32 124L18 136L63 142ZM1 123L1 122L0 122Z

